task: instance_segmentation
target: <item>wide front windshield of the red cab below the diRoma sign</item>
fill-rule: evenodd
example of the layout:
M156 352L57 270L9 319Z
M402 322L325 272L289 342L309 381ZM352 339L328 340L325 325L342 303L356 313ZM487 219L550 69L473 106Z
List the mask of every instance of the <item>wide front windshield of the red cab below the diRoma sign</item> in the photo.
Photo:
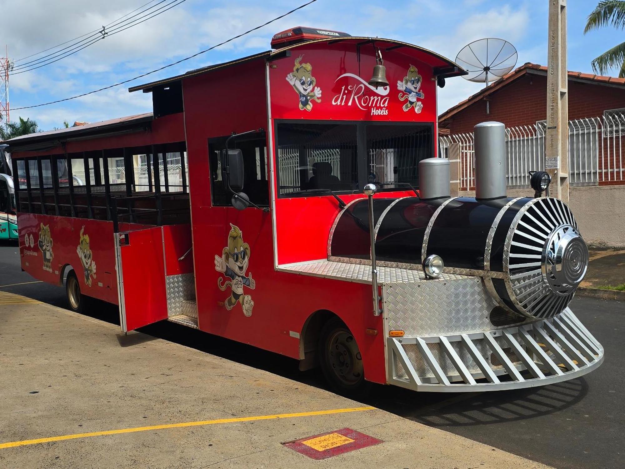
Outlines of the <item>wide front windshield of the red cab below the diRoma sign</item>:
M432 156L432 134L432 124L279 122L278 194L353 193L367 183L416 187L419 161Z

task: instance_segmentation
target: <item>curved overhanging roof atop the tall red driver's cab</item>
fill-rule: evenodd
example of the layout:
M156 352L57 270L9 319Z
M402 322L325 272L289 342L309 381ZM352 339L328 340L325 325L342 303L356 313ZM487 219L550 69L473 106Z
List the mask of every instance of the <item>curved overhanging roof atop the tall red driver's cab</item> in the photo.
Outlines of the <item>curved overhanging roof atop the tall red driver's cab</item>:
M394 39L346 36L343 38L314 39L312 41L304 41L301 43L292 44L290 46L287 46L281 49L276 49L274 51L264 51L258 54L253 54L251 56L243 57L243 58L232 60L229 62L224 62L221 64L213 64L213 65L209 65L206 67L197 68L197 69L188 71L186 73L173 76L171 78L165 78L165 79L161 79L157 81L152 81L146 84L141 84L138 86L132 86L131 88L128 89L128 91L133 92L133 91L141 90L144 93L149 93L154 88L165 86L170 83L175 83L183 79L190 78L192 76L209 73L217 69L222 69L222 68L226 68L229 66L247 63L247 62L260 60L260 59L271 60L271 59L277 59L277 58L281 58L284 56L288 56L292 49L297 49L297 48L300 48L301 46L307 46L309 44L317 44L317 43L327 43L328 45L334 44L334 43L347 43L347 44L354 44L354 45L364 45L364 44L375 43L376 47L380 48L382 51L384 51L384 49L386 49L386 51L389 51L389 50L396 50L396 49L403 48L407 51L408 55L430 64L434 69L438 69L439 73L437 73L437 75L439 76L451 77L451 76L461 76L461 75L467 74L467 72L464 71L464 69L461 66L454 63L454 61L447 59L446 57L441 56L440 54L432 52L428 49L415 46L414 44L404 43L402 41L395 41Z

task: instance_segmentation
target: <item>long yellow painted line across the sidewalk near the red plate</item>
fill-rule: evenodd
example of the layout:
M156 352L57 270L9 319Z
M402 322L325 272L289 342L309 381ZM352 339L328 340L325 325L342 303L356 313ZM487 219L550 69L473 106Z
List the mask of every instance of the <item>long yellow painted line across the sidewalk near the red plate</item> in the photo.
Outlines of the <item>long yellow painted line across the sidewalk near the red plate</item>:
M332 414L337 414L337 413L361 412L363 410L374 410L374 409L375 407L365 406L365 407L352 407L352 408L346 408L346 409L316 410L316 411L311 411L311 412L281 413L281 414L276 414L276 415L256 415L256 416L251 416L251 417L219 418L217 420L186 421L186 422L180 422L180 423L166 423L164 425L135 426L133 428L118 428L117 430L91 431L89 433L74 433L73 435L50 436L48 438L35 438L34 440L8 441L7 443L0 443L0 449L15 448L16 446L37 445L39 443L49 443L51 441L75 440L76 438L88 438L90 436L119 435L119 433L134 433L136 431L163 430L164 428L182 428L185 426L216 425L217 423L234 423L234 422L241 422L241 421L273 420L273 419L278 419L278 418L309 417L313 415L332 415Z

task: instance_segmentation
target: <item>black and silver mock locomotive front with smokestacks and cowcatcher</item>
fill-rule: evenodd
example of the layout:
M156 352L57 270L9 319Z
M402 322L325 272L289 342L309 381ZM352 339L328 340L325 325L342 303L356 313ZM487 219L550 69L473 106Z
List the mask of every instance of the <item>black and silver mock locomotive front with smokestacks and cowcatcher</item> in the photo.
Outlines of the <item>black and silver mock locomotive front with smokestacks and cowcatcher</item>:
M503 124L478 124L475 140L475 198L449 196L448 161L421 161L420 198L343 209L329 261L373 263L389 383L500 390L584 375L604 353L568 307L588 265L577 222L559 199L506 197Z

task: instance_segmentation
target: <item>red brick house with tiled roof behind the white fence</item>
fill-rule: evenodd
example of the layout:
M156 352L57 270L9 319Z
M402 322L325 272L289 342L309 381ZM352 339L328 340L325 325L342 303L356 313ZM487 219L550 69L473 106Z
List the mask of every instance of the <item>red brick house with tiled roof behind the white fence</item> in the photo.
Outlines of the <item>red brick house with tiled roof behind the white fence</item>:
M625 79L573 71L568 76L569 183L625 184ZM462 146L467 186L472 131L483 121L506 124L509 186L529 183L527 169L544 161L546 98L547 68L526 63L439 116L441 142Z

